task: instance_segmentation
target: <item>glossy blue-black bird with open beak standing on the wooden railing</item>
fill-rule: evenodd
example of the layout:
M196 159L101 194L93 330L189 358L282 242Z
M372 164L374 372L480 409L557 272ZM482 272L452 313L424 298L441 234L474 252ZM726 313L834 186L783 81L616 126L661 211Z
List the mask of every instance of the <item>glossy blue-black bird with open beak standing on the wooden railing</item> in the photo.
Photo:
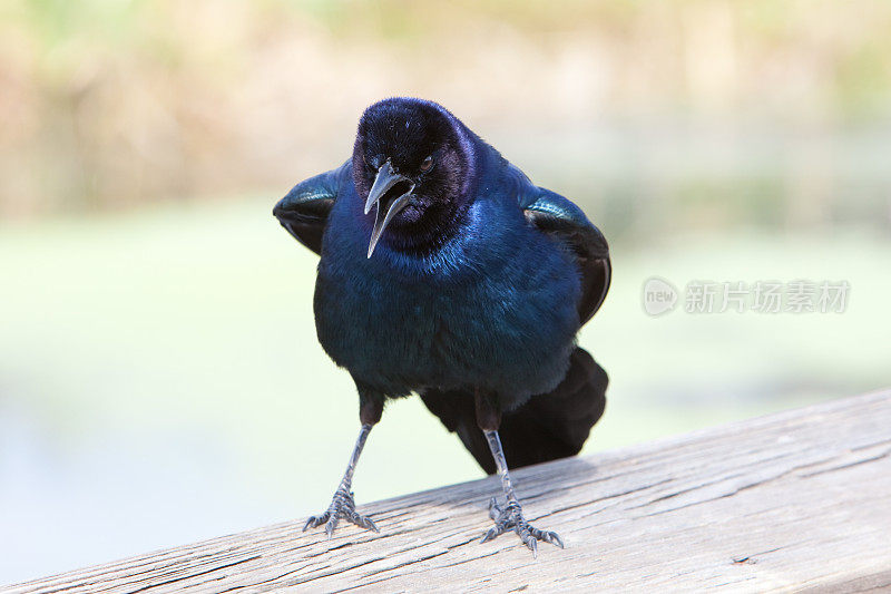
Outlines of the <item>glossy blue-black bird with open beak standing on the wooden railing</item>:
M372 213L373 211L373 213ZM600 418L607 376L576 333L609 289L604 235L571 202L520 169L442 106L392 98L369 107L350 160L297 184L274 215L321 255L319 341L359 390L359 434L327 510L355 510L352 476L384 400L418 393L482 468L498 471L495 526L562 547L532 527L509 467L574 456ZM503 448L502 448L503 444Z

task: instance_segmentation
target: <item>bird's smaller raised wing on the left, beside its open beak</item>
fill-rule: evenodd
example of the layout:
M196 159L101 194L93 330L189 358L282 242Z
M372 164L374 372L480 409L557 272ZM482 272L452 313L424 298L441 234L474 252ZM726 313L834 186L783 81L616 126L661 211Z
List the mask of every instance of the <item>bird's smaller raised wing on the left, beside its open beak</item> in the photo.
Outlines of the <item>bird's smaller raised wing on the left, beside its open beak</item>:
M295 185L273 208L282 226L316 254L322 252L327 215L340 188L350 183L351 171L347 160L336 169L310 177Z

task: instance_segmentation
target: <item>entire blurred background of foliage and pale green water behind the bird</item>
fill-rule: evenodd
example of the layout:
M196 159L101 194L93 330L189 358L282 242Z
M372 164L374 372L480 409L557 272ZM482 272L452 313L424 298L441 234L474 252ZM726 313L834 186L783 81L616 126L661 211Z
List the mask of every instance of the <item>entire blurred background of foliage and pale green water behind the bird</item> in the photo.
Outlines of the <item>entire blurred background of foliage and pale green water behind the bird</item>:
M356 397L271 208L386 96L610 240L587 452L891 383L888 2L10 0L0 89L0 583L327 505ZM650 318L654 275L851 293ZM410 399L356 498L479 476Z

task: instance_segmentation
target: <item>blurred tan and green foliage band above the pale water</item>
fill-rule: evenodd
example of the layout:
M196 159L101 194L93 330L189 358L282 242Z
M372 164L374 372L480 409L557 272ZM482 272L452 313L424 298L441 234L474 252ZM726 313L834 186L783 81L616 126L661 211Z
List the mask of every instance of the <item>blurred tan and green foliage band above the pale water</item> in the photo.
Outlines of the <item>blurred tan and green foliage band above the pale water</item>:
M884 224L889 32L861 0L10 0L0 216L274 196L411 94L614 234Z

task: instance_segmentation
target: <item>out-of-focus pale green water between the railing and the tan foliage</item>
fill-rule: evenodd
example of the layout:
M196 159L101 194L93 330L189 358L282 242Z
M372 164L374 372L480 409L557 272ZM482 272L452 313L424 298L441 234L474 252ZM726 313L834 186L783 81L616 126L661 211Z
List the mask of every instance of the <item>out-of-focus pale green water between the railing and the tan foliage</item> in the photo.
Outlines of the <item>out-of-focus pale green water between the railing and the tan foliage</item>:
M315 340L315 256L268 213L169 206L0 235L0 583L327 505L356 397ZM614 245L610 295L580 337L611 378L586 451L891 383L891 240L826 233ZM850 303L650 318L652 275L846 280ZM409 399L372 432L354 486L361 505L479 476Z

